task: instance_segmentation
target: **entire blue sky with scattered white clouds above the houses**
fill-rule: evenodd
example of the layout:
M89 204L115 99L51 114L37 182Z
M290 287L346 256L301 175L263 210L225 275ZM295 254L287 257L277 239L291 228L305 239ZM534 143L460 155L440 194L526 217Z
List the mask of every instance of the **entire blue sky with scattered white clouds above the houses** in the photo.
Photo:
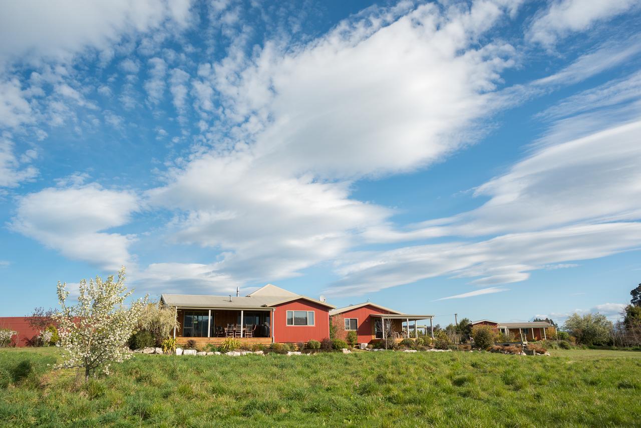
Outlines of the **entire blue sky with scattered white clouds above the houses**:
M3 3L1 315L121 265L442 325L641 282L638 1Z

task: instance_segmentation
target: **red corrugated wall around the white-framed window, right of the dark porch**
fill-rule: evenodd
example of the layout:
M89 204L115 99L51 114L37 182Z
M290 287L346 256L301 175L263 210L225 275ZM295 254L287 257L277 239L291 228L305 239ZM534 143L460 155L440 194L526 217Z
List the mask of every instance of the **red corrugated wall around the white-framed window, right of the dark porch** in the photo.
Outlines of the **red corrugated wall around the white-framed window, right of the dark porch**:
M314 325L287 325L287 311L314 311ZM298 299L276 306L274 310L274 341L307 342L329 338L329 308Z

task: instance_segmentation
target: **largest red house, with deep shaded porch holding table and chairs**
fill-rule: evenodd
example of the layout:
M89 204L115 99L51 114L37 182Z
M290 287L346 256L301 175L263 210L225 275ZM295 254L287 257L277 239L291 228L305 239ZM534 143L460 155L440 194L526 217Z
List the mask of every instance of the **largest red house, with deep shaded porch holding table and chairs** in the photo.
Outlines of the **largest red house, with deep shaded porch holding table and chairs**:
M218 343L237 338L251 343L307 342L329 338L334 306L272 284L247 296L170 295L163 305L176 308L178 343Z

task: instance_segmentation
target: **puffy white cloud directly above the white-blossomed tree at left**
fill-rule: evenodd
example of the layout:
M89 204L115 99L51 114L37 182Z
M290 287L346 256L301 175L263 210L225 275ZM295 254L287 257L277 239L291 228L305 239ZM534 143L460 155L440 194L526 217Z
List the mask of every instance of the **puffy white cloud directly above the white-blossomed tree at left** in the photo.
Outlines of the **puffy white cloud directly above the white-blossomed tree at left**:
M135 194L99 185L50 187L17 200L10 227L58 250L69 259L104 270L131 264L128 246L134 235L110 233L140 210Z

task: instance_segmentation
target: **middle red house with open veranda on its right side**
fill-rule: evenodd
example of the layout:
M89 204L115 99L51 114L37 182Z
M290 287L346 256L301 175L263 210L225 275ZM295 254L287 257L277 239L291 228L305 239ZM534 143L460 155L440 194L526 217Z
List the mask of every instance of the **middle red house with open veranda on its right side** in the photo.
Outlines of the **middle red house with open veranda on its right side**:
M332 309L329 316L339 338L344 339L347 332L354 330L358 343L370 343L376 339L383 339L384 336L414 337L418 335L419 328L425 329L425 333L428 334L426 327L417 326L419 320L429 320L429 334L433 336L432 315L404 314L371 302ZM413 330L410 321L414 321ZM383 331L383 325L388 326L386 332Z

